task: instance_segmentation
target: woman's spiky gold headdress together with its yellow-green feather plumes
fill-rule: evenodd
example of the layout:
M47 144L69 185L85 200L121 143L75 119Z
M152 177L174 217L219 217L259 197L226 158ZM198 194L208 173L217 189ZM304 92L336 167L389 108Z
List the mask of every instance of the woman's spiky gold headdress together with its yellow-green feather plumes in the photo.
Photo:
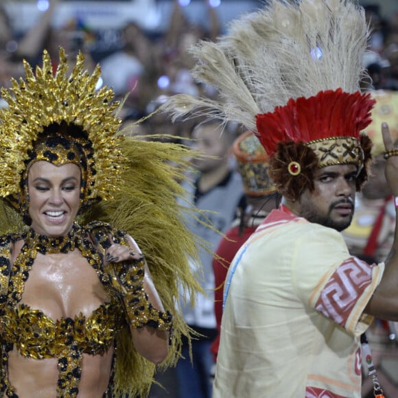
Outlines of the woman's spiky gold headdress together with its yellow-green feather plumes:
M139 244L163 306L174 318L169 355L162 365L175 364L182 336L189 338L189 328L176 307L180 288L187 297L200 290L188 259L198 261L197 247L203 242L185 226L183 215L191 210L176 200L185 197L179 181L189 168L192 151L119 131L113 91L95 89L100 67L89 75L82 54L70 75L63 49L55 75L47 51L43 67L35 73L27 62L24 65L25 81L13 80L10 90L1 90L8 108L0 110L0 233L23 226L25 180L32 163L79 165L85 210L79 222L109 223ZM127 327L117 339L115 395L144 397L154 364L134 349Z

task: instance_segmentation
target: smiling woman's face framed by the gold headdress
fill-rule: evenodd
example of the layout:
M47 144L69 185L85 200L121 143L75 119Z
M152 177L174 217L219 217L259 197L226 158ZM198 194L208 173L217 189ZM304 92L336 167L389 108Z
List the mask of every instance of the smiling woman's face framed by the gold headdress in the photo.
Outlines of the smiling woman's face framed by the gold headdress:
M49 237L67 235L80 205L78 165L38 161L27 174L27 189L32 229Z

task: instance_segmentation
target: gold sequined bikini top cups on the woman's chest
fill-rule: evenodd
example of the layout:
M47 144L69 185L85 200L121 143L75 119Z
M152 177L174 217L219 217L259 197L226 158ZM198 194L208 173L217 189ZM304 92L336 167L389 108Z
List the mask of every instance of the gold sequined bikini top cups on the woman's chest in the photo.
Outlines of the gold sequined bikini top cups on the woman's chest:
M106 303L88 317L53 320L40 309L25 304L6 307L1 316L0 333L24 357L41 360L66 356L73 351L104 354L115 340L123 320L120 306Z

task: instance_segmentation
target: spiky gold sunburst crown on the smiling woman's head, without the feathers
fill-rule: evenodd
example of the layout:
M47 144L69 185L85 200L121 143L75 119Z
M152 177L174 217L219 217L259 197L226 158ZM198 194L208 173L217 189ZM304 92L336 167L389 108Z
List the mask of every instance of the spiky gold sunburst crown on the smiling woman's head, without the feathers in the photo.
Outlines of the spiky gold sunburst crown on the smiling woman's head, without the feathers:
M85 178L83 204L112 198L117 191L123 165L120 150L123 137L117 134L120 121L114 113L119 104L112 102L111 89L104 87L96 91L101 73L99 66L89 75L80 53L73 71L67 75L64 49L60 48L59 56L55 75L51 58L44 51L43 67L36 67L34 73L24 61L25 80L12 79L11 89L1 89L8 107L0 110L0 196L8 198L15 207L24 196L21 189L28 165L41 160L38 152L43 151L36 153L36 146L47 138L45 130L51 125L68 126L66 132L56 134L89 148L83 152L91 152L86 159L86 175L82 174ZM75 137L69 135L69 130L78 128L82 132Z

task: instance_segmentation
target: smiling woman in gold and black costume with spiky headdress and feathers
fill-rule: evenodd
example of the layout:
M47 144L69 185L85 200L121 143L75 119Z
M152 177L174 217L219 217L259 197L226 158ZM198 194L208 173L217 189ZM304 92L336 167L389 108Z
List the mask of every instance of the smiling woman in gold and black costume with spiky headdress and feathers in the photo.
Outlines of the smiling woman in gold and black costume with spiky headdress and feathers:
M2 91L5 397L146 395L154 364L175 363L188 334L174 301L180 282L196 289L195 243L167 162L186 150L118 132L113 93L95 91L100 69L89 76L83 62L67 76L60 49L54 76L45 52L35 75L25 62L25 82Z

